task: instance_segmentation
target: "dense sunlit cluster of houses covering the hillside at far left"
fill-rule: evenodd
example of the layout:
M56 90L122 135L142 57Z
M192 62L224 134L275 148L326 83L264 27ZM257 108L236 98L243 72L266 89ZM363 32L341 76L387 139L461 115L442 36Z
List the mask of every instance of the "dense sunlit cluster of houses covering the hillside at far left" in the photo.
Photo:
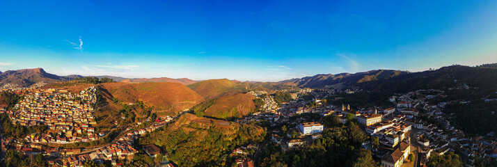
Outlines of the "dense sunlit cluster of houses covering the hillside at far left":
M97 88L92 86L80 93L68 90L26 89L24 99L15 104L12 111L6 111L13 123L20 125L47 125L59 135L42 134L26 136L35 143L74 143L97 140L95 118L92 115L96 103Z

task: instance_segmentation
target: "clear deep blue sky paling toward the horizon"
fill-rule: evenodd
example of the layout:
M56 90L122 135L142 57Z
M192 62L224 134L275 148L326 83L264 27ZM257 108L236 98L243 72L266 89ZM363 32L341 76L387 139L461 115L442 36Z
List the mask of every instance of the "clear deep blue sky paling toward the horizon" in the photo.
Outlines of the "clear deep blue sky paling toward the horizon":
M497 1L136 2L0 1L0 70L281 81L497 63Z

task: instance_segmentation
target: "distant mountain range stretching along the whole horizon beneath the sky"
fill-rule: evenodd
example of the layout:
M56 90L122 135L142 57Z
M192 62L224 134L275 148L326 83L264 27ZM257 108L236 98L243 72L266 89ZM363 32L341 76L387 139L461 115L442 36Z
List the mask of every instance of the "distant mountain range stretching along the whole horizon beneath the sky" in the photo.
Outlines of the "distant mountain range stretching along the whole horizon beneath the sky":
M404 72L400 70L371 70L368 72L358 72L355 74L317 74L312 77L300 79L288 79L279 82L242 82L229 79L209 79L205 81L194 81L191 79L171 79L166 77L152 79L127 79L113 76L95 76L97 78L108 77L114 81L124 83L145 83L145 82L176 82L188 86L205 100L212 99L223 93L246 90L277 90L292 87L319 88L333 84L345 84L345 86L359 86L365 90L386 90L407 88L429 88L429 86L446 87L454 80L464 81L464 83L475 87L494 90L491 83L497 81L497 63L468 67L463 65L451 65L441 67L438 70L427 70L424 72ZM42 68L8 70L0 72L0 86L5 84L17 84L18 86L31 86L40 81L48 83L58 81L70 81L75 78L84 77L81 75L69 75L60 77L49 74ZM443 85L443 86L441 86ZM496 83L497 85L497 83ZM402 87L402 88L401 88ZM495 85L494 85L495 87ZM395 90L395 91L397 91Z

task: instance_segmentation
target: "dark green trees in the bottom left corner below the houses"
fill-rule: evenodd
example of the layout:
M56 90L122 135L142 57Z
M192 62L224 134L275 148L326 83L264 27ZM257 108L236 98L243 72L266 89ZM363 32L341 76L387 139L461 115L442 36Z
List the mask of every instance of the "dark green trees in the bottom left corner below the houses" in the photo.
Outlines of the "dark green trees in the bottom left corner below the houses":
M6 153L5 160L0 162L0 166L48 166L48 164L43 161L42 154L25 156L17 150L9 150Z

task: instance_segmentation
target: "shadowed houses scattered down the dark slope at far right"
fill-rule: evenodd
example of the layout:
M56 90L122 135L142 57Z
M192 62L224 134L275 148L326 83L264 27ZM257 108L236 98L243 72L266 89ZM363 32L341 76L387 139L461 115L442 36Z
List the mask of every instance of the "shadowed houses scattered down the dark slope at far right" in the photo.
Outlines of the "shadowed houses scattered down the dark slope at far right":
M456 88L457 89L457 88ZM464 88L467 89L467 88ZM412 99L420 93L431 92L431 95L425 95ZM420 152L421 165L427 164L429 157L432 154L445 154L449 151L459 152L459 155L464 156L462 159L464 166L474 166L475 157L484 159L497 158L497 142L489 139L484 139L481 136L468 137L464 132L450 125L448 118L450 115L443 113L442 110L446 104L466 104L466 100L452 100L446 102L438 102L437 104L428 104L428 101L434 98L445 99L442 90L416 90L400 96L390 97L390 101L397 102L397 110L401 112L395 119L404 120L416 129L416 134L413 143L418 146ZM411 115L416 115L416 112L411 112L413 109L424 109L429 118L434 118L437 124L430 123L426 120L413 120ZM491 132L487 134L493 136Z

